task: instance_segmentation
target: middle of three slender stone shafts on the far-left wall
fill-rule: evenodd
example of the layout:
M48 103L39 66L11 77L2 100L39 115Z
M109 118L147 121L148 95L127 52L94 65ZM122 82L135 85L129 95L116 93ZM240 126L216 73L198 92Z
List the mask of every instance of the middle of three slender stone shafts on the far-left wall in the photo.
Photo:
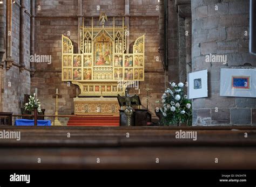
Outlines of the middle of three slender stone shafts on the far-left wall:
M24 16L25 16L25 2L21 0L21 9L20 9L20 26L19 26L19 65L21 69L25 67L25 24L24 24Z

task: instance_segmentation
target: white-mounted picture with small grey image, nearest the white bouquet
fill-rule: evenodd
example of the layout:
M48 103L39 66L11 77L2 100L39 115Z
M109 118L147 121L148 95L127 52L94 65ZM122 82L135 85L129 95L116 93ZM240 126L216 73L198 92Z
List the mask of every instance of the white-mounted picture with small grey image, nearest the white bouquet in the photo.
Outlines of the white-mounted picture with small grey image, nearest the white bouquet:
M207 69L188 74L188 98L208 97Z

